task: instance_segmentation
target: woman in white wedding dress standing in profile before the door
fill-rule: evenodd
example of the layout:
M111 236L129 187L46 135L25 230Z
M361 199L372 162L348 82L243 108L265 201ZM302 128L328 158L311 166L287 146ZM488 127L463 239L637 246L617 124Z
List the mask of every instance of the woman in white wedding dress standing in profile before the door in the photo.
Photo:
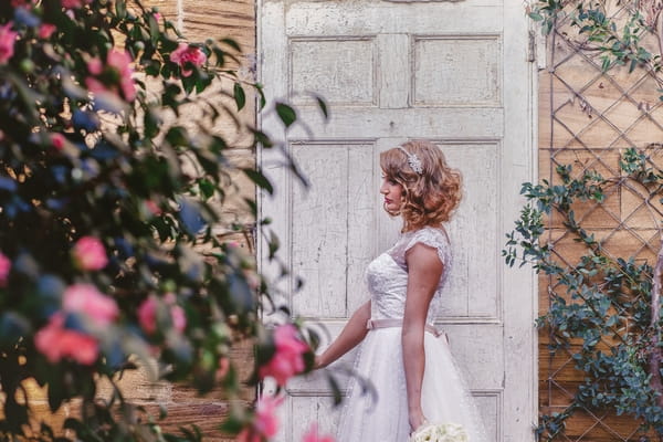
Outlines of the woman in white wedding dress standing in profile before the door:
M326 367L361 343L337 442L407 442L425 422L461 424L470 442L488 442L454 365L446 335L433 319L452 265L442 224L461 200L461 175L432 143L415 140L380 154L385 210L403 220L396 244L367 269L370 299L316 357Z

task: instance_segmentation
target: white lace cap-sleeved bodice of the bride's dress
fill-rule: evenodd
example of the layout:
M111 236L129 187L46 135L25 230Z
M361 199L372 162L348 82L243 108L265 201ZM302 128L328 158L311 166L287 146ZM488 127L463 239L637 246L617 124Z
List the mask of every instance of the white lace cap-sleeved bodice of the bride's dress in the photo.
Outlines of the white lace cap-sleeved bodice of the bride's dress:
M414 244L422 243L434 248L444 265L442 277L428 313L428 323L439 316L442 288L451 267L451 245L442 229L425 227L420 230L403 233L391 249L376 257L366 270L368 290L371 297L371 318L402 318L406 308L408 287L408 267L406 253Z

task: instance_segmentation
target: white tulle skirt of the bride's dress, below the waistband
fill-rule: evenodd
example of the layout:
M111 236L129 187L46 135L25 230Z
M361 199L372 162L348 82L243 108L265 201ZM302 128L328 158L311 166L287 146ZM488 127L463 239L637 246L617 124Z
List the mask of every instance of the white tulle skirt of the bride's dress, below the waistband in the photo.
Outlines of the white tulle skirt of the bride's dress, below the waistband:
M423 414L432 423L457 423L469 442L490 442L474 400L459 372L444 335L424 333ZM368 333L355 361L359 379L348 386L337 442L407 442L410 435L401 329Z

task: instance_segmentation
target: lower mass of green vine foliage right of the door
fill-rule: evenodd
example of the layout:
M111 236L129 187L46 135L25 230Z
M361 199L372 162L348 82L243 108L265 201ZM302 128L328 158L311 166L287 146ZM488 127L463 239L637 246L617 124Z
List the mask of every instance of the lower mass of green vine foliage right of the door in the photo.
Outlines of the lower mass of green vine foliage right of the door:
M649 370L662 325L652 324L653 269L632 257L611 256L576 220L573 210L600 204L611 187L625 181L645 190L646 201L661 199L663 173L642 151L627 149L620 167L619 177L588 170L573 178L571 166L560 166L559 185L525 183L522 192L529 202L507 234L503 255L509 265L529 263L550 276L550 305L537 319L550 334L549 351L569 352L583 373L570 406L540 418L537 433L546 440L560 435L565 421L579 409L631 415L642 420L643 430L663 434L662 392L652 386ZM545 235L546 217L560 217L568 234L582 245L578 262L567 264L556 255Z

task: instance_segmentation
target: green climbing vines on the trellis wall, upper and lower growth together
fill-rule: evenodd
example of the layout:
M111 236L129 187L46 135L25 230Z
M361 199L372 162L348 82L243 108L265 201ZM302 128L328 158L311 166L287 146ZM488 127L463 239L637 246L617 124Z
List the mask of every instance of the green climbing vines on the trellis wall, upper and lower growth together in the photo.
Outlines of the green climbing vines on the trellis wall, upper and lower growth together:
M564 38L604 73L646 73L663 98L661 1L533 0L527 13L544 34L552 35L552 42ZM549 334L550 354L568 352L580 372L570 403L540 417L541 440L565 439L566 423L579 410L630 415L642 422L640 441L663 440L663 248L650 261L614 256L577 215L579 208L603 204L607 196L628 186L642 196L651 229L661 231L663 173L652 158L660 139L648 143L644 149L621 152L617 176L603 177L596 170L578 175L566 165L556 169L555 182L523 186L528 203L503 253L508 265L530 264L548 276L549 305L537 326ZM582 248L575 262L556 253L547 235L548 217L560 219L565 234ZM629 229L628 222L619 228Z

